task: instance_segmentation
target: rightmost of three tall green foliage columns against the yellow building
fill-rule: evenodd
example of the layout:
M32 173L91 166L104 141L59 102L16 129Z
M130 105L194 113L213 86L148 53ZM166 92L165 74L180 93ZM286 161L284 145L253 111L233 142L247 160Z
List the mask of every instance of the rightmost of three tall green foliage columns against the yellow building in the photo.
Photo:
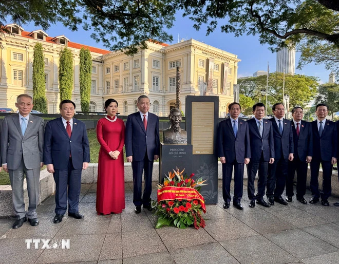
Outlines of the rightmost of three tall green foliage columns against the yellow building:
M80 103L83 112L89 111L90 90L92 82L92 56L88 49L80 50Z

